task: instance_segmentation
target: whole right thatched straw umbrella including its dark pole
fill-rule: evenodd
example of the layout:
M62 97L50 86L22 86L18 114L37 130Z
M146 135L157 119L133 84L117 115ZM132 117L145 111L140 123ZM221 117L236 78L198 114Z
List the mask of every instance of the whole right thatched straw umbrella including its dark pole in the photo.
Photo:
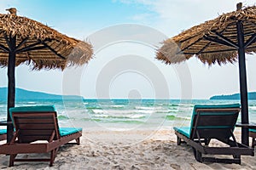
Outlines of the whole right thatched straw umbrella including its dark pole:
M247 124L247 74L245 54L256 52L256 7L243 8L221 14L215 20L194 26L163 42L157 59L166 64L180 63L192 56L203 63L219 65L238 59L241 94L241 123ZM241 142L248 144L248 128L241 129Z

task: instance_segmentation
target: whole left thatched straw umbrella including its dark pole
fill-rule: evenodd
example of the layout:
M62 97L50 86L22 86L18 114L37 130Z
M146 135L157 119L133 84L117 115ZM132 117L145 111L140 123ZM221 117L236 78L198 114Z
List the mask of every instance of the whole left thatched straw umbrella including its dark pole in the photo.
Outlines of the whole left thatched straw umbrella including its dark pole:
M83 65L93 54L89 43L67 37L49 26L16 15L0 14L0 66L8 66L8 118L9 108L15 106L15 66L27 64L32 70L65 69L70 65ZM8 126L8 141L13 132Z

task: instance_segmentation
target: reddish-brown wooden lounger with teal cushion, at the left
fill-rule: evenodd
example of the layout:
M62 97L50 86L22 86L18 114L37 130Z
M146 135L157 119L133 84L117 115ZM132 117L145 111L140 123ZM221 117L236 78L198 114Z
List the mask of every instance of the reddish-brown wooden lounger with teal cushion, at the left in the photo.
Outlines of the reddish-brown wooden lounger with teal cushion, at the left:
M53 165L57 150L62 144L80 144L82 128L59 127L53 105L10 108L15 127L9 144L0 145L0 153L9 155L9 167L14 161L49 161ZM70 141L75 140L75 143ZM18 154L50 153L49 159L16 159Z

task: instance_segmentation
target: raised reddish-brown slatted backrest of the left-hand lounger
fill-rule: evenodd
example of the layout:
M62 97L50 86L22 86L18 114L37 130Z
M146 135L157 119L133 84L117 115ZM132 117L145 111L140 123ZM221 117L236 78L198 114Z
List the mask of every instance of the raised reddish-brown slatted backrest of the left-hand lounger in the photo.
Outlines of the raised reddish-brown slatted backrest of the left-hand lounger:
M9 112L19 130L19 143L48 140L54 133L54 139L60 139L57 114L53 105L10 108Z

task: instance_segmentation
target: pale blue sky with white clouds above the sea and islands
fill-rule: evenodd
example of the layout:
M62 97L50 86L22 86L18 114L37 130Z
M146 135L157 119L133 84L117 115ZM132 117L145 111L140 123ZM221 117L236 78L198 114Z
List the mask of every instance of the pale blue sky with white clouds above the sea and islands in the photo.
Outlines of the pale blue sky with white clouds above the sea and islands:
M155 48L166 37L235 10L238 2L1 0L0 12L6 14L6 8L15 7L19 15L89 41L96 50L88 65L64 72L31 71L20 65L16 67L17 88L85 98L208 99L239 92L237 64L209 67L189 59L181 65L164 65L154 59ZM242 3L248 6L256 1ZM256 91L255 63L255 55L247 55L248 91ZM5 68L0 69L0 77L0 87L5 87Z

